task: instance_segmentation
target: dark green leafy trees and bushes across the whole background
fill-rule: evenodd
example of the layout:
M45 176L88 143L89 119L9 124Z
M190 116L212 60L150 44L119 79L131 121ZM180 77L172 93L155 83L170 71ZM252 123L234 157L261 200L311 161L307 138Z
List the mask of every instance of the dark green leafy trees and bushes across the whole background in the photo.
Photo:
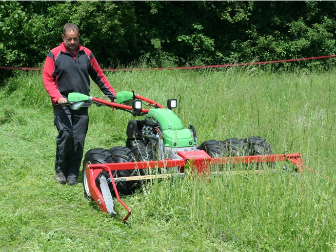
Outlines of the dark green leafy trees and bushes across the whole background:
M229 64L336 53L332 1L3 1L0 65L42 66L68 22L104 67ZM301 67L333 66L301 61ZM272 69L289 64L273 65Z

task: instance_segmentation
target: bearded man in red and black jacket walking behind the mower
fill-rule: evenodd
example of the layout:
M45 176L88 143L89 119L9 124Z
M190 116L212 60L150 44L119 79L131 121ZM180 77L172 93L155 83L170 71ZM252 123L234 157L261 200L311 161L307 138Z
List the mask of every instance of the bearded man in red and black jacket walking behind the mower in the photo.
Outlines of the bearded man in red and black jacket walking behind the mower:
M88 107L79 110L66 107L71 92L89 95L90 78L105 95L115 96L114 89L105 77L92 52L81 46L76 25L66 24L63 42L52 49L43 68L44 86L54 108L56 137L56 181L77 184L83 158L84 141L89 125Z

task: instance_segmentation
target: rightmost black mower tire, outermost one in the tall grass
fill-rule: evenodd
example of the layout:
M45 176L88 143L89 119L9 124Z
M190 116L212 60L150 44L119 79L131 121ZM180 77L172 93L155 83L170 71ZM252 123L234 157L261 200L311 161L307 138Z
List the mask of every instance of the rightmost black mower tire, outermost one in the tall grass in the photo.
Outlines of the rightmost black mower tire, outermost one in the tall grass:
M244 139L246 145L246 156L271 155L271 145L266 139L260 136L250 136Z

